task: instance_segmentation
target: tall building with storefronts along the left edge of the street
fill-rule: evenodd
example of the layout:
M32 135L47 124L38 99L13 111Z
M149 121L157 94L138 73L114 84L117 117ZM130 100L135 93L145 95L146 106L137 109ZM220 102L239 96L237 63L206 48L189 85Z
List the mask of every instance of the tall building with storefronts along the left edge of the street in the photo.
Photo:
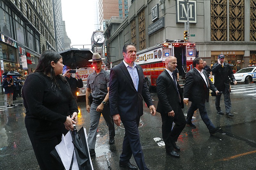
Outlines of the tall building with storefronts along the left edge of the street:
M55 50L52 13L51 0L0 0L1 84L4 72L28 75L42 52Z

